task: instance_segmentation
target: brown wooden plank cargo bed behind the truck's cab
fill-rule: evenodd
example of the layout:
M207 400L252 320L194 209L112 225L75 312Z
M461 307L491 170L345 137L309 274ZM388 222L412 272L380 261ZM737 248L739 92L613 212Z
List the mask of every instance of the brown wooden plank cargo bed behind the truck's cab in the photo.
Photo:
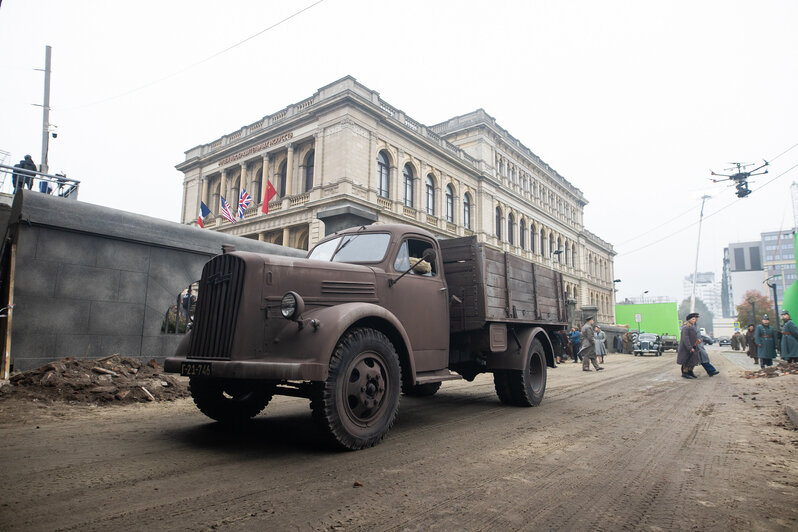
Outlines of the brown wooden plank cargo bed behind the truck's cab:
M451 331L487 322L556 324L567 321L560 272L477 242L475 236L441 240Z

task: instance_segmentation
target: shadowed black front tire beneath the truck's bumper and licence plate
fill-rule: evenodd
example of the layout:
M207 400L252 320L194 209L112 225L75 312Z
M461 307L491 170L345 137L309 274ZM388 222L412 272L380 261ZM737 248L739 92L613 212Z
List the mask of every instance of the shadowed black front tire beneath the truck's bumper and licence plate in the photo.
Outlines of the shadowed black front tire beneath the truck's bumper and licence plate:
M192 377L189 391L194 404L211 419L241 423L257 416L272 393L261 383Z

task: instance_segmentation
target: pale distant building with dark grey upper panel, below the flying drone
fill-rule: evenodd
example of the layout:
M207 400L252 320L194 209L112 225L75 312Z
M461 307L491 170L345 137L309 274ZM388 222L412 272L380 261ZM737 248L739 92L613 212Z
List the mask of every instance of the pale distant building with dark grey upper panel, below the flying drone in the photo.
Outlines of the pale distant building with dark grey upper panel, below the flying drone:
M744 302L745 293L756 290L762 295L767 295L764 284L765 270L762 263L762 242L737 242L729 244L723 251L724 260L723 276L726 286L726 297L731 306L729 312L736 315L736 307ZM722 298L721 298L722 299Z

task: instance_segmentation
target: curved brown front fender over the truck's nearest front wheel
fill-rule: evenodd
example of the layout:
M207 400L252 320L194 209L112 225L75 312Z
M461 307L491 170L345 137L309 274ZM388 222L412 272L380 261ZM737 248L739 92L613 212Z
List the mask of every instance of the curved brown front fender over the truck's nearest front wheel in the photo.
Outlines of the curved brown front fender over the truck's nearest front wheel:
M394 348L400 358L402 351L407 353L407 369L415 376L413 348L402 323L393 313L373 303L344 303L306 312L302 316L302 327L298 323L289 323L269 342L268 356L280 359L312 359L329 367L330 357L338 340L353 324L363 320L377 320L381 322L381 327L395 332L387 336L394 338L394 342L397 338L401 339L404 345L394 345ZM327 378L326 371L324 378Z

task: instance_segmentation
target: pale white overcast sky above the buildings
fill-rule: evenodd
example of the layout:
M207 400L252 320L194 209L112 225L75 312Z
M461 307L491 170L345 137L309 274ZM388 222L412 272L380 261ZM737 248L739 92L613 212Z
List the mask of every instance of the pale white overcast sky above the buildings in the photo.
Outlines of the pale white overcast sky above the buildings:
M186 150L351 75L423 124L483 108L579 188L619 301L795 225L794 0L0 1L4 164L40 162L50 45L49 167L81 201L179 221ZM747 198L710 180L763 160Z

